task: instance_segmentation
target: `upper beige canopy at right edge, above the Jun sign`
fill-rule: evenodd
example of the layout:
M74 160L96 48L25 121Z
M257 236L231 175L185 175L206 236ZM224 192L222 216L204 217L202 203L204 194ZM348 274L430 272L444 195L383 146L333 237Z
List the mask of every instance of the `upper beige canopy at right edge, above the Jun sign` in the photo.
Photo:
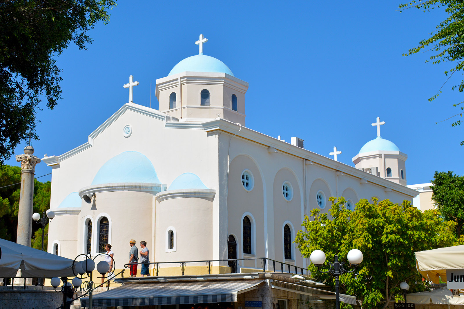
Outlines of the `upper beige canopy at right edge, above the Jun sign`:
M418 251L416 255L417 270L433 283L446 281L446 270L464 269L464 245Z

